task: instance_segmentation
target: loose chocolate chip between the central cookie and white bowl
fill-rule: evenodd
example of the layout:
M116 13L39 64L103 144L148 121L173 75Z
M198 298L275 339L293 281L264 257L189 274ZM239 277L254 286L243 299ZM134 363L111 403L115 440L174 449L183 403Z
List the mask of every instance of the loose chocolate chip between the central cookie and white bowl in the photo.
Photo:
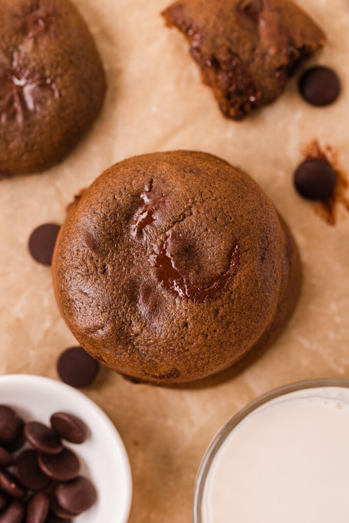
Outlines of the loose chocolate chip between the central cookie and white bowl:
M61 380L77 389L91 385L98 369L98 362L82 347L66 349L57 362L57 371Z

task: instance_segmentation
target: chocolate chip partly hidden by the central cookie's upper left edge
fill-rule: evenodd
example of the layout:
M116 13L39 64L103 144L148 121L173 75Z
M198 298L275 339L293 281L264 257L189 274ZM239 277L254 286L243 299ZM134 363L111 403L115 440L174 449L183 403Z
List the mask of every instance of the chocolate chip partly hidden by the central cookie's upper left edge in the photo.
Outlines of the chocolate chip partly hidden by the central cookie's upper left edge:
M29 252L36 261L43 265L51 265L59 231L59 225L45 223L31 233L28 244Z

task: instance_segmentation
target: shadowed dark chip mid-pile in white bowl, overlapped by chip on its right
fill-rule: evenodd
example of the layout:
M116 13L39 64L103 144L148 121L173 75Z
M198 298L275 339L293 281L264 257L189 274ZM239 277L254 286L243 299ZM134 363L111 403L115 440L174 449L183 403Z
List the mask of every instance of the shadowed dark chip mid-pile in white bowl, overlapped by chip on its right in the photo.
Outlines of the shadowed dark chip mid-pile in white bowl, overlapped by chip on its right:
M36 450L25 450L18 456L16 475L20 483L32 491L43 490L50 483L39 467L39 453Z

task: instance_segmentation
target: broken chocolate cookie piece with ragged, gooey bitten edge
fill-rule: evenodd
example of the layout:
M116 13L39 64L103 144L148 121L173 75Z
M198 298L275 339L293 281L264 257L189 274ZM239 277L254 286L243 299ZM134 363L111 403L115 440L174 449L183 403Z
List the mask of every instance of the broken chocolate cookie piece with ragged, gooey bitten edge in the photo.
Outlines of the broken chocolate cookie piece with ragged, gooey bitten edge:
M235 120L276 100L325 41L289 0L179 0L162 15L184 33L202 81Z

